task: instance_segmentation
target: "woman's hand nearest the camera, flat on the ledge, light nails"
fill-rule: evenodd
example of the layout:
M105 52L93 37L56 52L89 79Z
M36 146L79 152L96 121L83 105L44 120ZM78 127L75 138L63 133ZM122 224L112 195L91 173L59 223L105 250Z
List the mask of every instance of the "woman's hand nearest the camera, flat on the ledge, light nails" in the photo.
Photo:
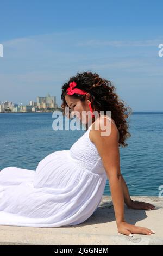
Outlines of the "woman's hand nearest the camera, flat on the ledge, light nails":
M119 233L130 237L133 237L132 234L152 235L155 233L151 229L131 225L125 221L118 223L117 228Z

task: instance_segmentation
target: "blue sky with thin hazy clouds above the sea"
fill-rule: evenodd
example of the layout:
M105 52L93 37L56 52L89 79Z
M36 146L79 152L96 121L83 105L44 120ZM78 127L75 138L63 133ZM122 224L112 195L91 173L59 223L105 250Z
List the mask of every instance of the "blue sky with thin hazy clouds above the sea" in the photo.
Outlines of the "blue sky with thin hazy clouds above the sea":
M77 72L111 80L133 111L163 111L162 1L1 1L0 101L29 103Z

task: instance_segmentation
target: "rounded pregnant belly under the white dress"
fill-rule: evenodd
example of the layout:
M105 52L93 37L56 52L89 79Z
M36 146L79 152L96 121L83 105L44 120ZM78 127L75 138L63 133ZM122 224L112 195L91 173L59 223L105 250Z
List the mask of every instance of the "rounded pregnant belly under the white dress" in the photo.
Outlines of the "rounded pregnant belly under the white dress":
M42 159L35 171L34 187L63 188L73 186L80 179L77 164L69 150L55 151Z

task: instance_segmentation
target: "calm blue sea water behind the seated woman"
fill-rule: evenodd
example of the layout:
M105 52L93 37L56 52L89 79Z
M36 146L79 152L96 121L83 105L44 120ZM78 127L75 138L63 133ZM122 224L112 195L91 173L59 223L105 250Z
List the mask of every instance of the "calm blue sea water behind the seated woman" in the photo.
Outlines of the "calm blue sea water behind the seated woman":
M53 129L51 113L0 114L0 170L15 166L35 170L57 150L68 150L86 130ZM133 112L128 146L120 147L121 173L132 196L158 196L163 185L163 112ZM107 180L105 195L110 195Z

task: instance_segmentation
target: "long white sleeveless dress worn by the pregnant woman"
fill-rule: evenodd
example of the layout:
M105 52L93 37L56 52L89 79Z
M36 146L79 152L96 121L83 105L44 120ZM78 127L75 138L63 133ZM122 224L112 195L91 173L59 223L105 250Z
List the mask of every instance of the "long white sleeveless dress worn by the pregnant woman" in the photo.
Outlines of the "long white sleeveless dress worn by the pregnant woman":
M101 202L107 175L89 138L91 127L70 150L55 151L42 159L35 171L17 167L1 170L0 225L77 225L93 214Z

